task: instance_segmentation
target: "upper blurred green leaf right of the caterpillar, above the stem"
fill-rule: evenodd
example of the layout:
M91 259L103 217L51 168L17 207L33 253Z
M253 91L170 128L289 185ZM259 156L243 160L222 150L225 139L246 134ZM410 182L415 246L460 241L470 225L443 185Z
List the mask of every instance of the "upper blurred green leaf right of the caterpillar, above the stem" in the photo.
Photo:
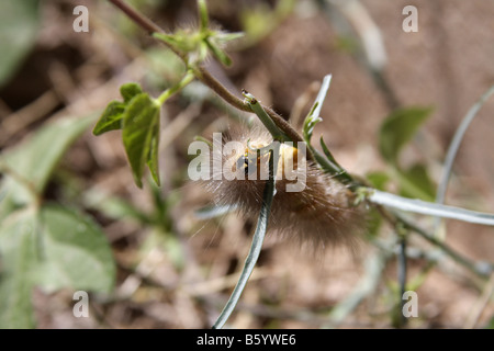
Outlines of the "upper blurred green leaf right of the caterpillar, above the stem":
M430 107L408 107L392 112L380 129L379 148L382 157L396 165L401 149L415 135L431 111Z

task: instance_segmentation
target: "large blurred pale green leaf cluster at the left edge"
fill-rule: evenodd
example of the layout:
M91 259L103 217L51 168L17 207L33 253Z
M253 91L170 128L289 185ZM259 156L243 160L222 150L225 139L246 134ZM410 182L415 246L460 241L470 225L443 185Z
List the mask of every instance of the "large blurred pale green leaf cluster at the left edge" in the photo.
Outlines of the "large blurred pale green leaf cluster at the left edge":
M50 123L0 156L0 327L35 326L31 294L63 287L108 294L115 264L100 226L44 197L68 147L96 115Z

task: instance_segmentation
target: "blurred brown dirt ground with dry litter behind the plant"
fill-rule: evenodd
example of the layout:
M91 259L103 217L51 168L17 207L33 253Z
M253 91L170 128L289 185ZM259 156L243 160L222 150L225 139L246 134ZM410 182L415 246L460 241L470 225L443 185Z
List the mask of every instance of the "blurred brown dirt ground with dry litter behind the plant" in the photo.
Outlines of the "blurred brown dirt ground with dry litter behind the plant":
M193 1L141 1L141 8L167 30L195 21ZM209 1L212 19L228 31L242 30L246 8L274 1ZM299 1L295 11L280 21L266 37L247 47L233 47L233 66L212 69L238 93L245 88L283 116L311 84L333 73L324 118L314 139L324 135L334 156L349 171L366 174L382 170L378 132L385 116L400 106L434 106L434 113L417 135L403 162L422 159L434 180L457 126L470 106L494 83L494 4L484 0L460 1L361 1L380 30L388 61L383 91L355 49L343 48L338 26L311 1ZM86 4L89 33L75 33L71 11ZM405 5L418 9L418 32L402 30ZM156 46L104 1L42 1L42 25L34 50L19 72L0 90L0 148L19 140L49 120L85 115L119 98L120 84L139 81L154 89L148 64L139 59ZM341 14L336 12L337 16ZM344 21L345 22L345 21ZM349 26L351 30L351 25ZM349 32L355 35L353 31ZM350 42L348 42L350 41ZM358 36L347 38L358 48ZM224 75L224 76L222 76ZM223 78L222 78L223 77ZM154 77L159 79L159 77ZM157 94L159 91L151 91ZM314 94L311 95L311 100ZM305 106L305 110L308 105ZM494 100L487 101L470 126L457 161L447 203L494 213ZM38 328L209 328L214 322L240 270L250 245L254 224L235 215L199 220L193 211L207 204L201 188L184 179L187 147L194 135L234 124L211 103L190 105L173 98L164 109L164 128L178 118L189 118L182 131L167 129L167 147L160 156L164 199L179 197L172 205L171 234L178 249L157 245L144 250L154 229L126 218L110 218L87 208L103 226L119 267L114 296L91 295L90 318L75 318L72 292L48 294L36 290ZM175 125L178 126L178 125ZM148 186L138 190L132 180L120 133L94 137L89 132L69 150L63 165L77 180L78 191L104 189L143 211L151 211ZM64 197L54 181L46 196ZM81 206L86 204L81 203ZM418 223L427 226L428 218ZM475 261L494 261L494 231L490 227L447 222L447 244ZM389 228L381 236L392 239ZM411 239L411 247L426 247ZM178 253L177 253L178 252ZM260 262L229 321L233 328L389 328L397 301L396 261L383 264L382 279L362 303L343 320L332 308L358 286L377 249L364 245L352 256L341 248L314 257L305 250L267 238ZM182 265L173 263L179 254ZM379 256L379 254L378 254ZM444 264L442 264L444 263ZM427 260L411 259L413 280ZM448 257L424 273L418 294L418 318L411 328L484 327L494 314L483 298L480 281ZM362 291L362 290L361 290ZM473 318L473 319L472 319ZM472 321L473 320L473 321Z

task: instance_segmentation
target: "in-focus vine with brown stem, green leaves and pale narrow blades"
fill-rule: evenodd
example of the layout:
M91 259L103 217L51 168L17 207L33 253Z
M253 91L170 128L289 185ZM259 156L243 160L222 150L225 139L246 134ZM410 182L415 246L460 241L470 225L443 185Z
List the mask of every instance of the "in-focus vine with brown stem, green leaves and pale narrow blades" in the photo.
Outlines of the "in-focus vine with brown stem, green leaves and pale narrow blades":
M492 273L492 263L470 262L447 247L441 240L436 239L431 234L414 225L402 214L395 212L396 210L401 210L430 216L452 217L460 220L494 225L494 216L491 214L471 212L462 208L426 202L434 200L434 184L428 178L424 166L417 163L409 169L403 169L402 165L400 165L400 150L412 138L422 122L424 122L430 114L430 109L401 109L396 110L389 116L381 128L380 151L390 165L390 172L372 174L369 177L369 181L360 180L359 178L349 174L336 161L323 139L321 139L321 146L324 155L318 152L311 144L313 128L315 124L321 121L321 106L329 88L330 76L326 77L323 82L319 94L311 109L311 112L305 118L302 133L303 136L301 136L274 111L262 106L252 94L245 92L244 101L236 98L204 68L203 60L209 56L209 54L222 64L228 65L231 59L223 50L222 44L238 37L237 34L228 35L220 31L213 31L209 27L205 1L198 1L200 18L199 29L195 32L179 31L175 34L164 33L164 31L156 24L126 5L123 1L110 1L125 12L136 24L153 34L155 38L161 41L169 49L171 49L182 60L186 67L184 71L187 72L178 84L166 90L157 99L150 98L135 84L123 86L121 92L124 101L111 102L100 118L100 122L94 127L94 134L97 135L111 129L122 129L123 144L125 146L134 179L138 186L142 186L141 179L143 177L144 167L146 163L151 171L155 182L159 184L158 165L156 161L157 140L159 140L159 106L166 102L171 94L183 89L187 84L191 83L193 79L198 79L216 92L232 106L242 111L254 112L267 127L274 140L305 141L310 151L307 155L308 160L315 161L324 172L332 174L338 181L347 185L356 199L356 204L366 203L370 207L374 208L377 214L381 218L385 219L392 228L394 228L401 248L398 252L401 292L405 290L406 284L406 244L409 233L417 233L425 237L451 258L482 276L486 276ZM132 92L128 92L128 90L132 90ZM251 250L242 273L242 278L214 327L221 328L229 317L259 256L262 239L268 227L270 206L273 201L273 185L276 182L273 177L273 167L274 166L271 165L271 176L266 183L263 202L258 217L257 229L254 236ZM375 184L379 183L380 188L383 188L385 182L391 179L397 180L402 195L418 197L422 200L412 200L404 196L394 195L368 185L369 182L374 182ZM223 213L223 211L221 211L221 213ZM380 267L380 264L377 267ZM379 269L372 271L370 274L373 276L372 281L378 279L380 276ZM341 318L340 314L344 315L348 310L351 310L351 308L355 308L356 304L358 304L362 296L372 291L372 282L366 283L367 287L363 294L362 291L359 290L349 302L345 302L347 304L347 307L344 308L346 312L335 313L337 315L336 319Z

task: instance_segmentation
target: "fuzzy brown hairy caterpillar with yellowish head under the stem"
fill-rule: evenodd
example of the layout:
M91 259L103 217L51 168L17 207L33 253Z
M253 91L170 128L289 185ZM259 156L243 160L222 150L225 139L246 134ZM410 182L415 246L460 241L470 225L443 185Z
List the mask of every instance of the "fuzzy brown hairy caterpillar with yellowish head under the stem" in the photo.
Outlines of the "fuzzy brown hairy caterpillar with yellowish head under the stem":
M221 162L224 167L213 167L213 177L205 182L205 186L217 205L236 206L245 217L255 219L259 215L267 179L261 177L260 166L267 165L269 155L259 152L254 154L252 158L252 151L270 145L272 137L256 126L247 132L233 133L231 140L237 141L240 147L213 152L212 166ZM268 230L314 249L335 244L355 247L357 234L364 224L364 211L352 205L353 196L345 185L307 162L300 154L296 148L281 144L277 192ZM293 169L291 179L287 166ZM236 177L228 177L228 171ZM255 177L251 177L252 173ZM288 186L300 183L301 179L301 191L288 191Z

